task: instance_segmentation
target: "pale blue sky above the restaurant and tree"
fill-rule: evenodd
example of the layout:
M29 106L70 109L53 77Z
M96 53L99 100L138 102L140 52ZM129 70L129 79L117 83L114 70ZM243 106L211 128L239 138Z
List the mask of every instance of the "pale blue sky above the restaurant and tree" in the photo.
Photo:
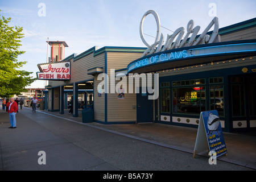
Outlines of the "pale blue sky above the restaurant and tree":
M255 0L0 0L0 15L11 17L10 26L23 27L18 61L27 61L20 69L39 72L37 64L46 63L47 39L65 41L65 57L78 55L94 46L146 47L139 34L143 15L154 10L159 15L160 32L166 38L193 19L203 32L214 16L220 28L256 17ZM168 28L168 30L166 29ZM155 42L156 22L151 14L143 23L146 41ZM150 35L150 36L148 36ZM37 80L31 88L44 88ZM26 86L29 88L29 86Z

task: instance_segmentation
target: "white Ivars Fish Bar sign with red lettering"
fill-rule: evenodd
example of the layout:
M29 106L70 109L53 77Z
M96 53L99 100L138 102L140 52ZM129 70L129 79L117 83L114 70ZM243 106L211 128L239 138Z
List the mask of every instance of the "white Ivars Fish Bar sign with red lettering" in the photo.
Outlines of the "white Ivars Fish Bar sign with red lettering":
M38 80L70 80L70 61L38 64Z

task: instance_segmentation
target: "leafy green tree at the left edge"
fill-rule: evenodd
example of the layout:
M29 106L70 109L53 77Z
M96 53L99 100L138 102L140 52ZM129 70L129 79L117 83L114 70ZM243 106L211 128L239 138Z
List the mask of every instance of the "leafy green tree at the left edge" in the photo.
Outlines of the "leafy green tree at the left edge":
M1 13L1 10L0 10ZM33 72L19 70L26 61L18 61L18 56L25 51L19 51L22 27L11 27L11 18L0 14L0 97L11 97L26 91L25 86L36 80L29 75Z

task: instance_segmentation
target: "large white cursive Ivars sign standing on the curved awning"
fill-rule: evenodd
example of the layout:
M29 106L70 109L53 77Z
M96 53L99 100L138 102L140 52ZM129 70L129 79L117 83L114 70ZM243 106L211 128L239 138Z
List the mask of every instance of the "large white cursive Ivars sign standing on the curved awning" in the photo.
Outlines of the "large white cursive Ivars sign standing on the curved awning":
M148 14L152 14L154 16L154 18L156 20L156 26L157 26L155 42L151 46L150 46L150 44L148 44L146 42L146 40L144 39L144 35L143 35L143 22ZM213 25L214 25L214 30L212 32L212 35L210 36L207 34L207 32L210 30L210 28ZM195 40L195 38L200 30L200 26L196 26L195 28L193 28L193 26L194 26L194 21L189 20L188 25L187 25L187 34L185 35L185 37L182 41L181 41L181 38L183 37L184 32L185 32L184 27L177 28L177 30L172 35L167 34L166 43L163 46L164 36L163 36L163 34L160 35L159 16L154 10L148 10L143 15L141 24L139 27L139 32L141 34L142 42L148 47L146 49L146 51L143 53L142 57L144 57L146 55L150 55L152 53L163 52L163 51L167 51L170 49L176 49L176 48L181 48L181 47L185 47L185 46L196 46L199 43L202 43L202 44L213 43L216 40L216 37L218 35L218 18L217 17L213 18L213 20L209 23L207 28L205 28L204 32L196 40ZM190 34L192 34L192 35L187 42L188 36ZM160 39L159 39L159 36L160 36ZM176 38L176 40L174 42L175 38ZM156 46L158 46L158 47L156 47Z

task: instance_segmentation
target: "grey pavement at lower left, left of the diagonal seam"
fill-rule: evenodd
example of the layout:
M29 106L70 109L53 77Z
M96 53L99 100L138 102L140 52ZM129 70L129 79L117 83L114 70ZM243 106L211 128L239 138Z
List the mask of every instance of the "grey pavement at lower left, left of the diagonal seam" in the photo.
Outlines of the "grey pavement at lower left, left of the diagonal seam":
M30 117L23 117L24 115L21 114L23 110L28 109L23 108L22 111L16 114L16 129L9 129L9 113L0 111L0 171L77 171L93 167L99 170L101 168L119 170L75 146L65 138L52 133L46 127L40 126L39 123L32 121ZM41 117L41 119L44 118ZM39 151L46 152L46 163L48 165L39 165L38 160L42 156ZM66 160L70 159L71 156L72 160Z

